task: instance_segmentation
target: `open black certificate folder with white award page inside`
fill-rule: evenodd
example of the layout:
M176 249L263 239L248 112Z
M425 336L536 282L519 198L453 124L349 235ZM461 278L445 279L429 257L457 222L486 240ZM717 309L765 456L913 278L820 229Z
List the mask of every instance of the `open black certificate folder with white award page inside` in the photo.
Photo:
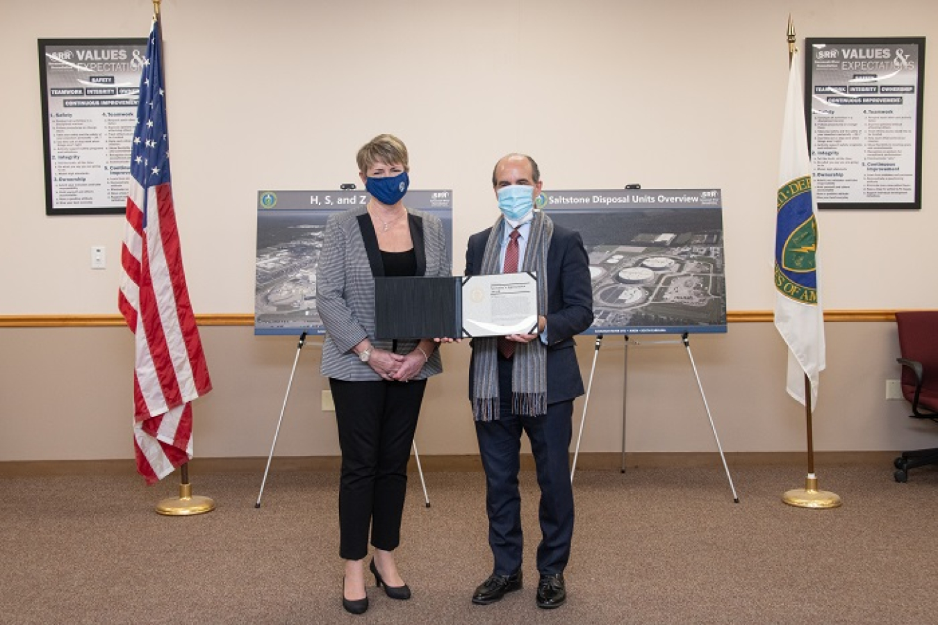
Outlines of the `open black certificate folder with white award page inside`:
M537 276L375 278L375 338L434 339L530 334Z

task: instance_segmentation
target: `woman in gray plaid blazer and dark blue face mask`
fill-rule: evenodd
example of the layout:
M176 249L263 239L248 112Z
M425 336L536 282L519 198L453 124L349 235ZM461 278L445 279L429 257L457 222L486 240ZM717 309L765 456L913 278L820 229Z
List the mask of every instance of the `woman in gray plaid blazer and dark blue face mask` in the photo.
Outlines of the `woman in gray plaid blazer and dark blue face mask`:
M394 561L401 539L407 461L427 378L443 371L432 339L374 339L374 278L448 276L439 219L403 206L409 164L401 140L382 134L358 150L367 206L333 215L325 226L316 305L325 326L322 373L329 378L342 452L340 556L342 605L368 609L365 558L388 597L409 599Z

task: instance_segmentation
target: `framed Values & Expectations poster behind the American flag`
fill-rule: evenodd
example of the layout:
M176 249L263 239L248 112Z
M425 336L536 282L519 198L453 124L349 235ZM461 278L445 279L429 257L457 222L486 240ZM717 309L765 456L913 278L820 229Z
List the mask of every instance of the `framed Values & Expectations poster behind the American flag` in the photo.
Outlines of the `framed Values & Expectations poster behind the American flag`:
M123 214L146 38L38 46L46 214Z

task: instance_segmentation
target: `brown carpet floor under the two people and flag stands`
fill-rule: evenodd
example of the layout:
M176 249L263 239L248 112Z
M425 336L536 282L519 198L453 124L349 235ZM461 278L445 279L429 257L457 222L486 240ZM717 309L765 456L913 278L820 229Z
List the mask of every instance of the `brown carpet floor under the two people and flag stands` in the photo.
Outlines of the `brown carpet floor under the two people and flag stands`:
M888 465L819 466L842 508L786 506L797 466L578 470L567 605L535 606L537 489L522 474L526 586L472 605L491 572L483 476L411 475L398 561L409 602L369 588L340 606L338 476L198 472L208 514L155 513L178 495L130 475L0 477L2 623L933 623L938 622L938 469L906 484Z

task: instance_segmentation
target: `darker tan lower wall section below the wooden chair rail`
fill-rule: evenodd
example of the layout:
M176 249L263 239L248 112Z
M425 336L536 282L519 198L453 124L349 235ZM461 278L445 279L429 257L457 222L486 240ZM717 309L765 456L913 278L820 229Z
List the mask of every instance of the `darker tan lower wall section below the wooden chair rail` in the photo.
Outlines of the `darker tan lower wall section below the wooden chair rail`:
M885 401L897 377L892 323L828 323L827 370L814 413L819 451L938 446L938 428L906 419L908 404ZM215 389L196 401L198 457L266 456L296 355L296 340L252 335L251 328L203 328ZM640 339L640 342L643 339ZM583 337L584 378L594 341ZM0 461L131 457L132 341L124 328L0 330ZM723 449L801 451L805 418L784 390L784 346L768 323L731 324L725 335L691 336ZM417 428L422 454L477 452L466 399L467 345L445 347L446 373L431 380ZM599 350L582 452L621 449L625 342ZM323 412L319 353L300 354L277 445L278 456L336 455L334 413ZM628 347L629 451L715 451L688 354L682 345ZM582 399L575 426L582 417Z

